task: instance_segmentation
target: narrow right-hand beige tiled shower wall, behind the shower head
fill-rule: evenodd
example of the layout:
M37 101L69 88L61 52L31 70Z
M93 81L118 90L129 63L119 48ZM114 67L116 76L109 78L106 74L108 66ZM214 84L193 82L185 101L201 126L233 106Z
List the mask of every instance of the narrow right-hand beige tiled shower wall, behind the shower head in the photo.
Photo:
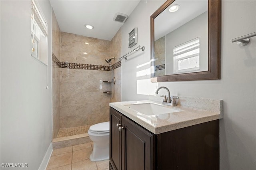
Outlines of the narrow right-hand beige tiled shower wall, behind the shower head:
M116 57L112 60L114 67L114 77L116 84L113 85L110 102L121 101L121 61L118 60L122 55L122 27L118 30L116 35L110 42L110 56ZM116 65L116 66L115 66Z

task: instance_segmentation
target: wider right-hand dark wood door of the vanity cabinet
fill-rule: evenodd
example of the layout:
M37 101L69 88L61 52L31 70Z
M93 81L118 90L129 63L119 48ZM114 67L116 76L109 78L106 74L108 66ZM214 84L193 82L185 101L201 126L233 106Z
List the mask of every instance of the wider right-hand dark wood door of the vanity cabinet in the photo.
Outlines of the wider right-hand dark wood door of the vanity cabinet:
M154 135L122 116L122 170L153 170Z

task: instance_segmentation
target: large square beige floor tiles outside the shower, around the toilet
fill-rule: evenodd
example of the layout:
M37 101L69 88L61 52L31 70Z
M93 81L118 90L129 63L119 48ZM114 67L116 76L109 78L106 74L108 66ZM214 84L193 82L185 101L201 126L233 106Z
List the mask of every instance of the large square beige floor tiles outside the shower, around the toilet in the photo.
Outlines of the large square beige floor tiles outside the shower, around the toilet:
M46 170L108 170L109 160L91 162L92 142L54 149Z

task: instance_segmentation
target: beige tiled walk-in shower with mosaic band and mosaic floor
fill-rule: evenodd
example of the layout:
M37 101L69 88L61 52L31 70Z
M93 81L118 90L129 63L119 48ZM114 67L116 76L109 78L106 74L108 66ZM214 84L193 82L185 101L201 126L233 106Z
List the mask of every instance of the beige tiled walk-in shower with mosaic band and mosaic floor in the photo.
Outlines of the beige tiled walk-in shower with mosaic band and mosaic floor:
M109 103L121 101L122 29L111 41L100 40L60 32L54 13L52 18L53 138L58 139L85 134L90 125L109 121ZM105 61L112 56L116 84L113 93L103 93L111 90L111 83L103 81L112 79Z

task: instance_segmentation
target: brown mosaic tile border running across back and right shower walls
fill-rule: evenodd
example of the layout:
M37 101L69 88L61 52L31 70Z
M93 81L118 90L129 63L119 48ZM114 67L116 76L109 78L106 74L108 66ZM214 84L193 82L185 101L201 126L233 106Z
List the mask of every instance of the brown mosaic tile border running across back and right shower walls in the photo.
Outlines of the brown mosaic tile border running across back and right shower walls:
M55 63L55 61L54 61L54 63ZM118 61L112 65L113 69L116 69L121 66L122 66L121 61ZM110 66L106 66L106 65L68 63L68 62L60 62L60 68L111 71Z

